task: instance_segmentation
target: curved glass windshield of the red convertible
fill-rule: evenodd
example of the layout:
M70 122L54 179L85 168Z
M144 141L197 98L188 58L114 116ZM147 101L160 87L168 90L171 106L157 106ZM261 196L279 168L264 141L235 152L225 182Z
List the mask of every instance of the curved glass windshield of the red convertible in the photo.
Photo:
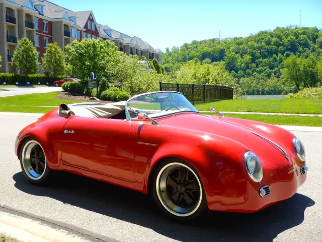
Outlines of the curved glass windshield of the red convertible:
M140 111L146 112L152 118L185 111L199 112L184 95L177 92L139 95L128 101L127 110L131 119L137 118Z

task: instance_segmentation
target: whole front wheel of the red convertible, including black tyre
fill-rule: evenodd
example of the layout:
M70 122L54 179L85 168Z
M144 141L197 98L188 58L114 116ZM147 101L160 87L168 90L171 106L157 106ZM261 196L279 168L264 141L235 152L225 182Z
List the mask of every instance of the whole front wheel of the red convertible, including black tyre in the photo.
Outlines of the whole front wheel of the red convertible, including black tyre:
M182 160L169 159L156 168L152 195L158 207L175 221L197 220L210 212L199 175Z

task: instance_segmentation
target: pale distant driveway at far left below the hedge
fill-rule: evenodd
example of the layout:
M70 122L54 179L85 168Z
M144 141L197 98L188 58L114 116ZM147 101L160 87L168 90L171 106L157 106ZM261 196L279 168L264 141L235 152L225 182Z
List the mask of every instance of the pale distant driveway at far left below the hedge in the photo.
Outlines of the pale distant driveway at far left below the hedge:
M61 87L2 87L8 91L0 91L0 97L10 97L34 93L62 91Z

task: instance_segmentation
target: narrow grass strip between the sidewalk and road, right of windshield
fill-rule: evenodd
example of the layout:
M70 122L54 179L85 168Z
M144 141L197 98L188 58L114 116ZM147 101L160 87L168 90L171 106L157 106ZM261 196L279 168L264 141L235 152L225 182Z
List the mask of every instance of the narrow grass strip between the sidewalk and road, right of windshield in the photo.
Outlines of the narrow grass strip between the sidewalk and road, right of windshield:
M206 113L213 114L215 113ZM272 125L296 125L322 127L322 117L319 116L298 116L298 115L265 115L265 114L234 114L223 113L227 117L237 117L264 122Z

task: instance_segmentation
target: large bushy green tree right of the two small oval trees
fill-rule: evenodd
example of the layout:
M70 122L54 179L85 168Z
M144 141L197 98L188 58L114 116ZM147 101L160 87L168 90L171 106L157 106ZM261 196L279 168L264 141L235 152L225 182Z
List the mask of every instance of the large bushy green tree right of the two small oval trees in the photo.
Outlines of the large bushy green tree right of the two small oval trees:
M87 80L91 72L95 77L109 79L113 76L120 53L114 43L100 39L74 40L65 47L65 59L71 75Z

